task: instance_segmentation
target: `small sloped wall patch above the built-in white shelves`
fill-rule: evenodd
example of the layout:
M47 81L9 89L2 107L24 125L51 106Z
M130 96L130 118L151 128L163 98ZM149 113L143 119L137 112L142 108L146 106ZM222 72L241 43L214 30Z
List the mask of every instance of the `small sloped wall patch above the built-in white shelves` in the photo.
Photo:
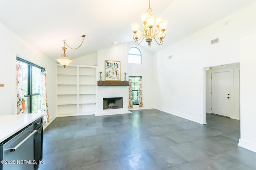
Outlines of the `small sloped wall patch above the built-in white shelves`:
M71 64L97 66L97 52L73 59Z

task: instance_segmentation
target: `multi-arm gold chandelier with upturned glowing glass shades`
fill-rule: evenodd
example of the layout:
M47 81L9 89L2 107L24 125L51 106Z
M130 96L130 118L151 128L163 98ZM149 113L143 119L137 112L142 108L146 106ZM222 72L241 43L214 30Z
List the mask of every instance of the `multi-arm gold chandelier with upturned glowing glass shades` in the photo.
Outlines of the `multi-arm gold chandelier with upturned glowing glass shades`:
M151 41L154 39L158 45L162 45L165 37L166 25L168 21L162 17L154 17L152 14L152 8L150 8L150 0L148 2L148 10L146 13L141 14L143 22L143 30L139 30L139 23L132 23L132 31L134 33L134 44L139 45L143 39L146 39L149 47L151 47ZM156 22L156 30L153 30L154 22ZM159 42L158 42L159 41Z

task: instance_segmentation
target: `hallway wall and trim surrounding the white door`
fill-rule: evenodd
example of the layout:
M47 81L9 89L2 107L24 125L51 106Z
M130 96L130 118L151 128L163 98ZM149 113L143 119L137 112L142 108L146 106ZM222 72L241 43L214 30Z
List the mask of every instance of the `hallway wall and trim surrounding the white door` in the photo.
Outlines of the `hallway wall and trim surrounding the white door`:
M211 75L214 72L230 71L230 118L240 120L239 103L239 70L240 63L226 64L223 66L212 66L212 69L206 70L206 112L211 113Z

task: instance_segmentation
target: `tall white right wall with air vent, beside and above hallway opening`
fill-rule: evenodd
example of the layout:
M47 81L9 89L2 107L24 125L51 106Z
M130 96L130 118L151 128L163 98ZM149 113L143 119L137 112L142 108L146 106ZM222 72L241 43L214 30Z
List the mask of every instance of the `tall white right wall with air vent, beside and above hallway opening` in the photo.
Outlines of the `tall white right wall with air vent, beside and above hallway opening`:
M239 37L256 30L255 16L256 3L155 53L155 107L204 124L204 68L240 62Z

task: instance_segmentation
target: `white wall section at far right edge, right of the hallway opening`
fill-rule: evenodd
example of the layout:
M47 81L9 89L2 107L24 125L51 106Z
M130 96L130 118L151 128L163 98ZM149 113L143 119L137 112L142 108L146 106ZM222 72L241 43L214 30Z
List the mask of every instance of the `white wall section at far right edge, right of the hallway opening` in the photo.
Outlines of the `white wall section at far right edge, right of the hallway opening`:
M238 145L256 152L256 33L242 36L240 42L241 138Z

